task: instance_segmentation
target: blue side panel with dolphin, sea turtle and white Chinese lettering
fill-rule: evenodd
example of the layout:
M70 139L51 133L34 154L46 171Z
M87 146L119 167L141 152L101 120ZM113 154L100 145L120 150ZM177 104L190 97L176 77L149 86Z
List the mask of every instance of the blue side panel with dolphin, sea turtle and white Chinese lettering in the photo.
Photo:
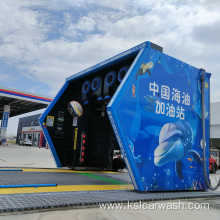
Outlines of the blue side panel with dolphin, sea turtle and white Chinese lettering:
M142 49L108 105L109 118L140 191L204 190L201 71ZM209 85L206 76L206 164ZM135 187L135 188L136 188Z

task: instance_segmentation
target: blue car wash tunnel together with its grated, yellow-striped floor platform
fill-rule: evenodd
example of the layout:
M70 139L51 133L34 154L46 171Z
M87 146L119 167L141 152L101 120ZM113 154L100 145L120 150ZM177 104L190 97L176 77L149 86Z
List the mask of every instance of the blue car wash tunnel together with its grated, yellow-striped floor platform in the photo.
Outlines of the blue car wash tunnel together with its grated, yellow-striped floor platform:
M220 197L210 77L151 42L70 76L39 119L57 169L2 169L0 210Z

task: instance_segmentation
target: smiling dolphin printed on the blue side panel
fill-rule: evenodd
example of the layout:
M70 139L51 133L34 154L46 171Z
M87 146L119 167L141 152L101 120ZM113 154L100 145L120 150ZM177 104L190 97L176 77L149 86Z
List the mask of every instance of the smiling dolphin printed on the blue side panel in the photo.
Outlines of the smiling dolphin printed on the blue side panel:
M175 161L175 171L179 179L183 179L181 159L191 155L201 165L199 154L192 150L192 128L187 121L165 124L159 136L159 146L154 151L154 164L162 166L169 161Z

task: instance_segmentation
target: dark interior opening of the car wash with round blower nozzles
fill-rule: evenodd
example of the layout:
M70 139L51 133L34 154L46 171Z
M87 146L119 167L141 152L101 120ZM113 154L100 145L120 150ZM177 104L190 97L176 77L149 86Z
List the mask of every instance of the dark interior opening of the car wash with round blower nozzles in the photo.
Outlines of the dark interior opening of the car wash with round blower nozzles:
M68 83L44 125L59 166L112 169L120 148L106 108L136 55Z

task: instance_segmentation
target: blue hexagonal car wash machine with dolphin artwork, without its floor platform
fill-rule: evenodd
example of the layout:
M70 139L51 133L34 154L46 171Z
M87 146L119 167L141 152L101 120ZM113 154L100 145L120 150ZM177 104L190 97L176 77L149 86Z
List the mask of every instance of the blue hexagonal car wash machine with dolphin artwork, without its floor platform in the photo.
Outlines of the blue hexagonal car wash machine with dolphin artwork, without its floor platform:
M210 76L144 42L67 78L40 118L57 166L120 149L136 190L207 189Z

